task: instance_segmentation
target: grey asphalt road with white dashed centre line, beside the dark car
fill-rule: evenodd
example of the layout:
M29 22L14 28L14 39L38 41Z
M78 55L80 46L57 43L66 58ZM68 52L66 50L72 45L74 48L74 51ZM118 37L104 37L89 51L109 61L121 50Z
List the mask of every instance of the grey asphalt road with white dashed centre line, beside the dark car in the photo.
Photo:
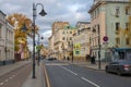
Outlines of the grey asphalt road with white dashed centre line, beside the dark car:
M131 87L131 76L107 74L87 67L47 61L45 65L51 87Z

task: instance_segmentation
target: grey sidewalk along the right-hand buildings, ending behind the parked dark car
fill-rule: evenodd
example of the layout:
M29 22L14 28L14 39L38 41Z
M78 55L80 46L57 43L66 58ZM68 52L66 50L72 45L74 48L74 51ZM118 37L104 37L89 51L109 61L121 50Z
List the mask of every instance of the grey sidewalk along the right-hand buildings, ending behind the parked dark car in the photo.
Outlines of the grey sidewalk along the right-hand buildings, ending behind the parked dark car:
M92 69L92 70L99 70L98 62L96 62L96 64L91 64L91 62L82 62L82 61L73 61L73 63L71 61L64 61L64 62L69 62L70 64L75 64L75 65L80 65L80 66L85 66L85 67ZM108 63L100 62L100 70L104 71L105 66Z

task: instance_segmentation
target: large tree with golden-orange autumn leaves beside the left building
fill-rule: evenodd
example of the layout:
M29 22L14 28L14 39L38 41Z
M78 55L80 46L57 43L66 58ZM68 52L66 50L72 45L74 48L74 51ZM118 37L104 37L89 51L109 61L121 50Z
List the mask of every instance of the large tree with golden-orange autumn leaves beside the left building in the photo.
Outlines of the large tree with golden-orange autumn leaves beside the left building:
M23 14L14 13L12 15L9 15L7 17L9 23L14 27L14 44L15 44L15 52L20 50L20 45L24 46L24 49L27 48L27 37L33 36L33 26L32 26L32 21L27 18ZM22 28L23 26L26 26L27 30L23 32ZM35 32L38 32L38 27L35 27Z

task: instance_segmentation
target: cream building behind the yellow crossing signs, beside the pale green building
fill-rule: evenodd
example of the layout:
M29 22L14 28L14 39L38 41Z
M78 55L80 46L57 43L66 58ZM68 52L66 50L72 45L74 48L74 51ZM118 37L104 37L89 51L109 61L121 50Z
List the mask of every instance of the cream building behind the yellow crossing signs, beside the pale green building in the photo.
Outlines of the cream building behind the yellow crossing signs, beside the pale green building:
M74 60L85 61L90 55L90 36L91 36L91 23L78 22L76 34L73 36L73 55Z

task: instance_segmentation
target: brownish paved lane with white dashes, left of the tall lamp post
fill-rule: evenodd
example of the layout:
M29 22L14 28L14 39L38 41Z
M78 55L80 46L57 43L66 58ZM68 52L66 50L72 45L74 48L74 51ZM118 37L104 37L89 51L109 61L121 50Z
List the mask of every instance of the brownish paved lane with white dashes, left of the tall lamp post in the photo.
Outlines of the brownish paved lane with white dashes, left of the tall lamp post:
M31 63L0 76L0 87L21 87L32 71Z

